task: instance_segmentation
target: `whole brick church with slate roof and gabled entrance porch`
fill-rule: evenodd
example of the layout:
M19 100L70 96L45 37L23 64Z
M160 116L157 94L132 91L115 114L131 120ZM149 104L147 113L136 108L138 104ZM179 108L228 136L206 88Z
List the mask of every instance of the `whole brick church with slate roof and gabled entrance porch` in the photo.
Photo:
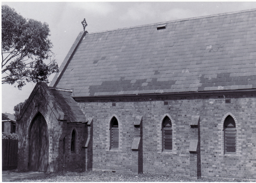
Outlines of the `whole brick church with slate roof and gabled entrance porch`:
M256 9L82 31L17 117L18 168L256 178Z

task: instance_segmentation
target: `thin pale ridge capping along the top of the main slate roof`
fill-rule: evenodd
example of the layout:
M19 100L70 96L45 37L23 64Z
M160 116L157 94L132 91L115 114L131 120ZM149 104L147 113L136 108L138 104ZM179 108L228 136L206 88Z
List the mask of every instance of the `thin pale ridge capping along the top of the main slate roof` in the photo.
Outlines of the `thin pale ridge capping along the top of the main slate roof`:
M253 12L253 11L256 11L256 8L240 10L240 11L236 11L236 12L228 12L228 13L220 13L220 14L214 14L214 15L206 15L206 16L200 16L200 17L191 17L191 18L183 18L183 19L178 19L178 20L162 21L162 22L156 22L156 23L153 23L153 24L145 24L145 25L133 26L133 27L124 27L124 28L118 28L118 29L113 29L113 30L103 30L103 31L92 32L92 33L88 33L88 34L89 35L93 35L95 33L103 33L103 32L111 32L111 31L116 31L116 30L133 29L133 28L138 28L138 27L146 27L146 26L153 26L153 25L159 25L159 24L167 24L167 23L171 23L171 22L186 21L186 20L196 20L196 19L201 19L201 18L210 18L210 17L217 17L217 16L223 16L223 15L245 13L245 12Z

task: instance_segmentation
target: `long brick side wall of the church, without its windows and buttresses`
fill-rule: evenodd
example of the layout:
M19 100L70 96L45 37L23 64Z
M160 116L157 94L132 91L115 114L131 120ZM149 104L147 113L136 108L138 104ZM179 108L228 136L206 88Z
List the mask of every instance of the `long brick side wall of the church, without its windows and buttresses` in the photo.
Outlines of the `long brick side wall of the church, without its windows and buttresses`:
M142 116L143 171L190 175L189 121L191 116L198 115L201 176L256 178L256 94L159 95L77 101L94 121L93 170L132 171L133 123L136 116ZM236 121L235 154L224 154L223 121L228 115ZM161 128L165 116L172 122L171 151L162 151ZM110 149L109 129L113 117L119 122L117 150Z

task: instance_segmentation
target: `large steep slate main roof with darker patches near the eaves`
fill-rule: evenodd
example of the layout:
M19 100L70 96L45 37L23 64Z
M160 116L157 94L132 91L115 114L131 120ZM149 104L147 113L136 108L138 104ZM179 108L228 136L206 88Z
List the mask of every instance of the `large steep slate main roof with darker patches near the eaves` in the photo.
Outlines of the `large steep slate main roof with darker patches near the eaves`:
M252 9L80 32L51 86L78 97L256 88L255 25Z

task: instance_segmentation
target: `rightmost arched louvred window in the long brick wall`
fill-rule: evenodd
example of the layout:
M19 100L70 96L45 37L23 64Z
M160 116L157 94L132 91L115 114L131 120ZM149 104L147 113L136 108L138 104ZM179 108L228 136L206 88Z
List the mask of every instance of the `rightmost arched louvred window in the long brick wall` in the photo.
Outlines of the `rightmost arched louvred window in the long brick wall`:
M224 121L224 150L225 153L236 152L236 123L234 119L229 115Z

